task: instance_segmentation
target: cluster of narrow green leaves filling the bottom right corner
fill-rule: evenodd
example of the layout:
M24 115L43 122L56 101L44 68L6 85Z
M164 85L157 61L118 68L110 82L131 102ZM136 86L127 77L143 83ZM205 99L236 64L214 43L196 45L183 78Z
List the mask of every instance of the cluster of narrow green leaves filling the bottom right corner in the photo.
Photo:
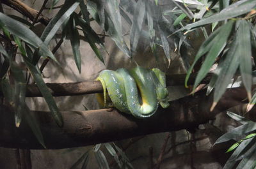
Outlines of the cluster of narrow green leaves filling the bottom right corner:
M232 112L228 112L228 115L233 119L238 120L243 125L232 129L228 133L225 133L225 135L218 138L218 140L215 142L222 143L232 139L237 141L227 150L227 152L230 152L236 149L228 159L223 169L233 168L237 164L237 168L239 169L255 168L256 123L253 121L248 121L244 119L244 117L233 114Z

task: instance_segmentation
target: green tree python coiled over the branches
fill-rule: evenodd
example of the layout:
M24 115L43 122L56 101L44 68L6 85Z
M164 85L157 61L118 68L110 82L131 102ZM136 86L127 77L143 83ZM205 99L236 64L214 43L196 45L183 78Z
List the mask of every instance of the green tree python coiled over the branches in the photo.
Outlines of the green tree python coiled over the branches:
M103 70L96 80L102 84L104 98L101 99L105 107L109 96L120 112L145 118L153 115L159 104L163 108L169 106L165 74L157 68L147 70L137 66L132 70Z

